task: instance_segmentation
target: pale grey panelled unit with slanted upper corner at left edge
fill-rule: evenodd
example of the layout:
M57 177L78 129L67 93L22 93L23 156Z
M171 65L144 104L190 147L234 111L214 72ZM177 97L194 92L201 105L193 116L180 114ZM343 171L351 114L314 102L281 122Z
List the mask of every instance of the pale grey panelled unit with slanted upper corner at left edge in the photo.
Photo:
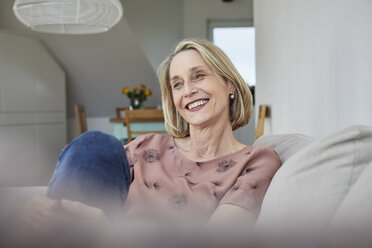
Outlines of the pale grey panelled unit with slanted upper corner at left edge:
M65 73L39 40L0 31L0 186L46 185L65 144Z

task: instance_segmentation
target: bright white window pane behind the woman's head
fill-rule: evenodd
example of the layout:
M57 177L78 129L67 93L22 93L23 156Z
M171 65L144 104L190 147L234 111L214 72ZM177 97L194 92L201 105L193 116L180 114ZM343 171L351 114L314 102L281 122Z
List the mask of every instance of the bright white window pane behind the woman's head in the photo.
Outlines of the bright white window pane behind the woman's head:
M213 43L226 53L248 85L256 85L254 27L213 28Z

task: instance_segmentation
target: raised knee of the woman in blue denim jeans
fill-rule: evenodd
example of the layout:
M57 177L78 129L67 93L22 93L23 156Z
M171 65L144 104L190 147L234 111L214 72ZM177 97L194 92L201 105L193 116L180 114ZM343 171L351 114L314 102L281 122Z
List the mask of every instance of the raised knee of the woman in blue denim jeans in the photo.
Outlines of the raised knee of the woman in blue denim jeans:
M112 135L88 131L62 150L47 195L101 208L115 218L129 184L129 165L121 142Z

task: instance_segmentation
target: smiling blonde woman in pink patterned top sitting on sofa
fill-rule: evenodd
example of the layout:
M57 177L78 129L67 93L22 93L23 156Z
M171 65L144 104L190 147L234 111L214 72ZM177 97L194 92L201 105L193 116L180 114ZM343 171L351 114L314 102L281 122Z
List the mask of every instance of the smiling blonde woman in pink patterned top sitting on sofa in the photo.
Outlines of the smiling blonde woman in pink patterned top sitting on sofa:
M246 83L219 48L202 40L181 41L161 64L159 80L169 136L140 136L124 152L108 135L83 134L61 153L50 198L29 204L105 222L120 212L127 219L254 223L280 160L233 136L252 113Z

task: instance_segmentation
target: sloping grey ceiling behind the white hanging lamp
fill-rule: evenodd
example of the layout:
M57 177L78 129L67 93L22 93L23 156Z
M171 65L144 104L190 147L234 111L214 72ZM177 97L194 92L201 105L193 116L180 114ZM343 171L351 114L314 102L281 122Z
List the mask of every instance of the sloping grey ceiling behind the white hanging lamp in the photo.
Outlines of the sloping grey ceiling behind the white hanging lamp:
M75 103L85 105L89 117L114 116L116 107L129 105L121 89L141 83L154 91L146 105L160 104L156 73L125 17L106 33L43 34L19 23L12 5L12 1L0 1L0 28L42 41L66 73L69 117L73 117Z

